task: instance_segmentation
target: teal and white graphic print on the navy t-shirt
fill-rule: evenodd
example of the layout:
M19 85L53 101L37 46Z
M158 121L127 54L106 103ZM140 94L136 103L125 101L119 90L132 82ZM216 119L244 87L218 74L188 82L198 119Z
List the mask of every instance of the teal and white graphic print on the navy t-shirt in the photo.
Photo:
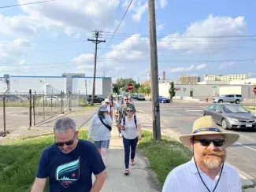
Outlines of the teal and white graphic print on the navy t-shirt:
M56 169L56 180L68 188L80 177L80 157L76 161L61 164Z

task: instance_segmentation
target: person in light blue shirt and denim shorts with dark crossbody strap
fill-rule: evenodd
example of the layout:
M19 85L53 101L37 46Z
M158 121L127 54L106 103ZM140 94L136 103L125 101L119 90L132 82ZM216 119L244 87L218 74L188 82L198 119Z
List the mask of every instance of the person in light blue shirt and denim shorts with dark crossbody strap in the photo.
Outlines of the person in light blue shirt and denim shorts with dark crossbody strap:
M98 113L91 119L88 131L88 139L93 139L97 146L98 152L102 156L102 160L106 166L107 150L109 149L109 140L111 137L112 120L107 113L106 105L99 105Z

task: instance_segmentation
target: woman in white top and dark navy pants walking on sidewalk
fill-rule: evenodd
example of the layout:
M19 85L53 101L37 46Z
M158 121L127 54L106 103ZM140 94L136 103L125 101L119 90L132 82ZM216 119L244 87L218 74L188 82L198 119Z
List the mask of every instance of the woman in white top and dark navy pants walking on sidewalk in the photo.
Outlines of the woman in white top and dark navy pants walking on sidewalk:
M124 143L124 164L125 175L129 174L129 161L131 153L131 165L135 165L135 153L138 140L141 139L141 127L138 118L134 115L132 107L126 110L128 116L125 116L121 121L121 134Z

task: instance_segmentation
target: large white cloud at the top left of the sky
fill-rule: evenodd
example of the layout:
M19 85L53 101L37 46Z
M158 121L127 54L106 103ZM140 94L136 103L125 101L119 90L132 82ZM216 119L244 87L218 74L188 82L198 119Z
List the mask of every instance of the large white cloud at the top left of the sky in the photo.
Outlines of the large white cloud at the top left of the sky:
M31 0L18 0L23 4ZM84 34L92 28L104 29L108 24L113 24L113 12L118 8L121 0L72 0L55 1L29 6L20 6L24 15L5 17L0 14L0 33L10 36L38 35L39 28L46 30L65 31L67 35ZM102 14L105 20L102 24ZM112 25L111 25L112 26ZM116 26L112 26L111 30Z

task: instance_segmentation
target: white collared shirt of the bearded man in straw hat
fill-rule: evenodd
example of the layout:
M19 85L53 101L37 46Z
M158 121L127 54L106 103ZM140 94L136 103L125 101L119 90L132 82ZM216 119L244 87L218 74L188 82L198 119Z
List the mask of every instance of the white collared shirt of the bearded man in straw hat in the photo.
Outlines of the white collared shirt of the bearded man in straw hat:
M213 180L203 173L200 168L198 168L198 170L202 176L202 180L206 183L210 192L212 192L220 177L221 171ZM195 167L195 161L192 158L191 161L186 164L181 164L169 173L165 180L162 192L209 192L209 190L206 189L206 186L202 183L202 180L200 179L197 168ZM229 164L224 164L221 179L214 192L241 191L241 180L236 168L233 168Z

